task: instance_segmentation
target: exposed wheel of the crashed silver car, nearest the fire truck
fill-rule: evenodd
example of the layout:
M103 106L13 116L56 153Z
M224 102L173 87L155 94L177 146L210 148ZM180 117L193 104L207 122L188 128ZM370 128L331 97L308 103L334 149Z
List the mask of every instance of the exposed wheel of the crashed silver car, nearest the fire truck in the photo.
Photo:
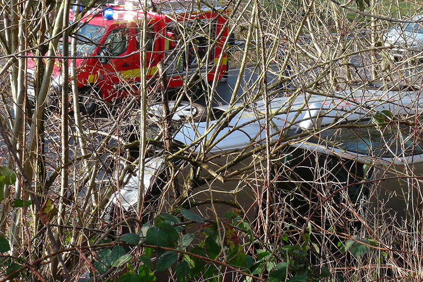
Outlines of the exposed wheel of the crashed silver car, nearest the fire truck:
M169 101L169 110L172 111L175 107L176 101ZM160 122L163 118L163 106L162 103L152 104L147 112L150 120L154 122ZM178 108L175 110L172 116L173 122L185 121L191 119L192 121L202 121L205 118L204 106L197 103L190 103L188 101L181 101Z

